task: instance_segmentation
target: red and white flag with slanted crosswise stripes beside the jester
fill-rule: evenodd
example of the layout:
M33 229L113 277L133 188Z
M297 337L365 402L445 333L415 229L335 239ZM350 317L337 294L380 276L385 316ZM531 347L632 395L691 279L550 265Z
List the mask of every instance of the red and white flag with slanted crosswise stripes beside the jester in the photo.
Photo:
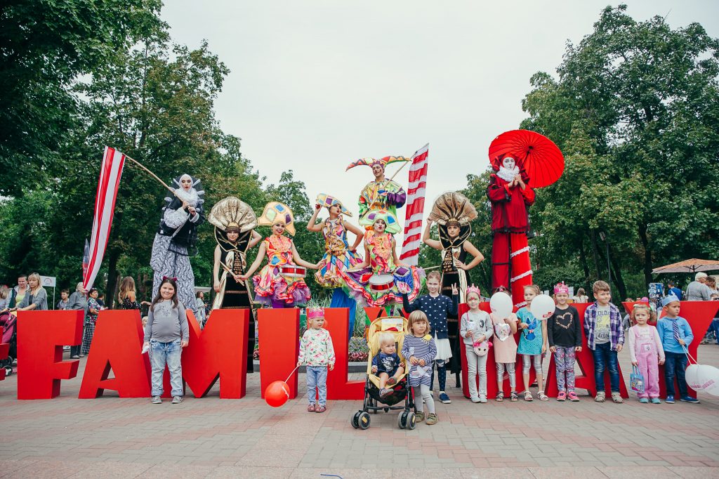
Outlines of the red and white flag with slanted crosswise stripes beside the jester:
M412 165L409 168L405 231L400 260L413 266L416 266L419 260L419 245L422 237L422 215L424 213L424 193L427 187L428 156L429 143L412 155Z

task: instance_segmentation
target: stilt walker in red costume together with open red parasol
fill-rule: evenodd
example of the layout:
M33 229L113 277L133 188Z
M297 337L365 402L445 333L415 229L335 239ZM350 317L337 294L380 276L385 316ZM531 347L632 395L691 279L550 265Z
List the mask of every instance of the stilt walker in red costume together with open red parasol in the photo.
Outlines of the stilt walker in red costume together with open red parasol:
M564 157L549 138L526 129L500 134L490 145L487 196L492 203L492 288L504 286L515 306L524 306L524 286L532 283L527 239L528 209L534 189L562 176Z

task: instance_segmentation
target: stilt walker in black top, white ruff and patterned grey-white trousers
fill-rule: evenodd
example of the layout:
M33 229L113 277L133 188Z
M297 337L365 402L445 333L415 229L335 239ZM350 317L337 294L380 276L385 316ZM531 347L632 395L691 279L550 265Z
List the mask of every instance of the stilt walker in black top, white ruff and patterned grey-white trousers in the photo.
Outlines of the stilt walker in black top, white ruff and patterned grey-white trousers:
M195 302L195 275L190 257L197 254L197 227L203 222L202 204L205 191L198 178L184 174L173 180L173 198L165 198L160 227L152 242L150 266L152 297L160 291L163 278L175 278L178 298L201 317Z

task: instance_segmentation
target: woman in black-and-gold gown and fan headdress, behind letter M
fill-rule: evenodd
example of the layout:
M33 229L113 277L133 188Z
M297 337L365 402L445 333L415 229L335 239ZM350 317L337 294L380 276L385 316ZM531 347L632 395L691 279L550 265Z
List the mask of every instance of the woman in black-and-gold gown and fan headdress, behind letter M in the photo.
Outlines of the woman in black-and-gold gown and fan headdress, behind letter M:
M247 268L247 250L262 240L254 229L257 227L257 216L247 203L228 196L212 206L207 221L215 227L217 242L212 270L215 291L212 309L249 309L247 373L252 373L255 370L252 364L255 352L252 290L249 281L242 281L239 276Z

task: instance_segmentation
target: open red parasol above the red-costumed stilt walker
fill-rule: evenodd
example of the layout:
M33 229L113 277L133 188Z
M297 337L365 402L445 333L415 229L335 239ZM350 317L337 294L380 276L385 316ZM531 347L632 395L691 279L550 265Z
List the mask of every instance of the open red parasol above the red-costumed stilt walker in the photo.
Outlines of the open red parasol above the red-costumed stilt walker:
M528 129L500 134L490 145L489 155L495 168L499 168L502 158L514 158L519 168L526 171L532 188L551 185L564 171L564 156L559 147L543 134Z

